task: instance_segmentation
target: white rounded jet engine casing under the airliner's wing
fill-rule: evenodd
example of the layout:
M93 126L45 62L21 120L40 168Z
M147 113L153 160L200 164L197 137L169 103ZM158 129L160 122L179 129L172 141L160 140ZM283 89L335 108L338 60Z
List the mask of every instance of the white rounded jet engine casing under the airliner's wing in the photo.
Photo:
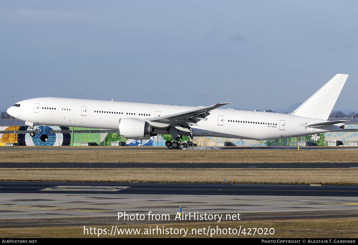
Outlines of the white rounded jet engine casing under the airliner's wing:
M151 126L148 122L135 118L121 118L119 120L119 132L122 137L129 139L142 138L151 134Z

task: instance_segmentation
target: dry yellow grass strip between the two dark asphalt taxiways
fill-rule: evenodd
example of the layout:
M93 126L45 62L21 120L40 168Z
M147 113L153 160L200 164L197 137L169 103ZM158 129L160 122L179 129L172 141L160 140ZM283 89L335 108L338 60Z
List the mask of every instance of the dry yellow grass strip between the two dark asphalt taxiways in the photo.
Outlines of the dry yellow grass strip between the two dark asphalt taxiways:
M0 181L358 184L358 169L0 169Z

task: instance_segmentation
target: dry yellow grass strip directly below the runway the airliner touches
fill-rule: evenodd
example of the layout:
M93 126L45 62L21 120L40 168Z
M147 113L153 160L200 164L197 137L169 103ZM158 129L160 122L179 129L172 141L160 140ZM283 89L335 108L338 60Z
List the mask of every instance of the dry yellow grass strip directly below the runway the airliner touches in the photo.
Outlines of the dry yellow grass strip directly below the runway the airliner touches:
M87 148L88 149L88 148ZM1 151L0 162L309 163L358 162L357 150L40 150Z

